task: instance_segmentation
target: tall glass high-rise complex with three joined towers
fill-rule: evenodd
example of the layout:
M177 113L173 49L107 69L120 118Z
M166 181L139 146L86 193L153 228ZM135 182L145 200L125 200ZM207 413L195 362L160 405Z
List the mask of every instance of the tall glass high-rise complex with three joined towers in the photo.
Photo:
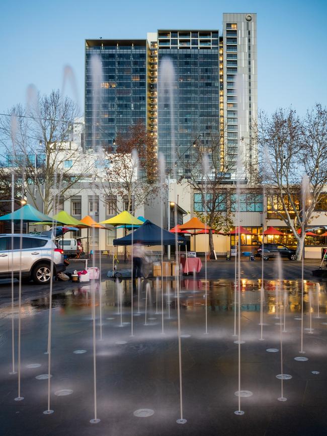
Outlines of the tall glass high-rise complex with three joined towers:
M99 55L103 67L96 114L92 54ZM160 82L164 58L171 59L175 70L173 118L169 90ZM167 167L175 166L179 175L186 171L181 162L191 159L193 142L205 147L212 135L220 141L221 171L227 169L231 178L239 150L247 162L255 163L256 14L223 14L221 33L163 29L148 33L146 40L87 40L85 87L86 149L114 144L119 132L142 120L154 138L153 154L162 153Z

